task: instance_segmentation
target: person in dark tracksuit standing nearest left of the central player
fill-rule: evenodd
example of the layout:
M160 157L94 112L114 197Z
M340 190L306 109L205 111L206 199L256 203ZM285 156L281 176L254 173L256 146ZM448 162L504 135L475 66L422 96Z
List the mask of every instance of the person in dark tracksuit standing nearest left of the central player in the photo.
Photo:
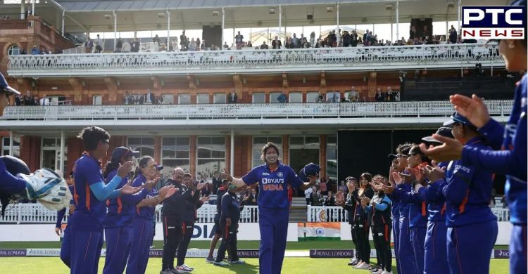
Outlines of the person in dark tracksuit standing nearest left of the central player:
M220 228L222 229L222 242L218 247L215 265L225 266L223 262L225 251L229 250L231 254L230 263L239 264L244 261L239 260L237 255L237 229L240 220L240 211L244 208L244 202L240 202L235 191L237 187L230 184L227 187L227 193L222 196L222 212L220 214Z

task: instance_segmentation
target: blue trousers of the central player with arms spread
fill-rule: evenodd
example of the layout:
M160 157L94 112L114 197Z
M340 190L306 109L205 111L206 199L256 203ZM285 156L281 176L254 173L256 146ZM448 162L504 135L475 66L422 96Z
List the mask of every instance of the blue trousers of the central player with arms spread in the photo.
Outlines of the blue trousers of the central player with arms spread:
M260 218L259 273L280 274L288 235L288 208L258 207L258 217Z

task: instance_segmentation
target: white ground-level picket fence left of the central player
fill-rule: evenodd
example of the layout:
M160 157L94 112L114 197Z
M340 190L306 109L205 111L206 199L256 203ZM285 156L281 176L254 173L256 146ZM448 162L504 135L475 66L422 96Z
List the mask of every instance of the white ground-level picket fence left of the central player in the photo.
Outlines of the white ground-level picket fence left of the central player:
M197 210L197 223L214 223L216 205L203 204ZM46 209L42 204L9 204L1 223L56 223L57 211ZM63 222L68 223L68 214ZM156 222L161 223L161 213L156 212ZM245 206L240 212L241 223L258 222L258 206Z

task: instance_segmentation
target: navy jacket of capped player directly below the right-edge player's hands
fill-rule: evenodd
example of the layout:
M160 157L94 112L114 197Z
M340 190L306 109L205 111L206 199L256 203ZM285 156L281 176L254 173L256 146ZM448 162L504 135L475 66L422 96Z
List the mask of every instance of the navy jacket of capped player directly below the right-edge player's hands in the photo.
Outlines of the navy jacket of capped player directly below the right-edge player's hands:
M472 138L466 145L481 151L491 150L482 137ZM442 188L446 198L446 226L464 226L497 219L489 208L493 188L490 169L468 166L459 159L449 163L446 178L447 183Z

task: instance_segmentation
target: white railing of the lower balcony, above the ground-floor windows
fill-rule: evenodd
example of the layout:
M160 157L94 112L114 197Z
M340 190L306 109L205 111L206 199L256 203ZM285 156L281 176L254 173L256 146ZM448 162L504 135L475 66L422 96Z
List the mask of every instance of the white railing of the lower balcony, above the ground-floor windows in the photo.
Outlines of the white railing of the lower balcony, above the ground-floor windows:
M486 100L490 115L509 115L512 100ZM448 101L213 105L50 105L6 107L1 120L266 119L448 117ZM1 123L0 123L1 124Z

